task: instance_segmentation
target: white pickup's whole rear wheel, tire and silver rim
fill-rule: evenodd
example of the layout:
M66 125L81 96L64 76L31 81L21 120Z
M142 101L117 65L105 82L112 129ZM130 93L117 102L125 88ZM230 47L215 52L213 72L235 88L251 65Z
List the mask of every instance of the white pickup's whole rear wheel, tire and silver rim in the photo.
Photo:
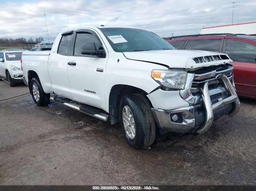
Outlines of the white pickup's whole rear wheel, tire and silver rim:
M32 98L38 106L45 106L50 103L50 94L45 94L40 81L32 78L30 82Z

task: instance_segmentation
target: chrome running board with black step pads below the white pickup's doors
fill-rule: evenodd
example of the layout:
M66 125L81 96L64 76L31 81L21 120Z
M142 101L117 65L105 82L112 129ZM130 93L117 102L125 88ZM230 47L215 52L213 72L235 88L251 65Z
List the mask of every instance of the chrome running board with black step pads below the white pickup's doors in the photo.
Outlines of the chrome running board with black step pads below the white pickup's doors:
M85 113L86 115L89 115L89 116L95 117L97 119L100 119L102 121L105 121L105 122L108 121L108 115L107 114L101 113L100 110L92 108L88 105L81 106L79 104L72 103L71 102L72 100L70 100L68 98L64 98L64 97L52 96L52 97L50 97L50 100L55 101L57 103L60 103L62 105L65 105L67 107L70 107L74 110L80 111L82 113Z

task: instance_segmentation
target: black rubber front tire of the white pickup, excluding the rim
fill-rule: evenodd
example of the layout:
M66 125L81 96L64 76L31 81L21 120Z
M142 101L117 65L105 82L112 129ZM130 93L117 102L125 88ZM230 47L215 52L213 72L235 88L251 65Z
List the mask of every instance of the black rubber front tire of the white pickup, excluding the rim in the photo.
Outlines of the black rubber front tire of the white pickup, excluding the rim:
M128 106L135 122L135 137L129 138L125 131L123 121L123 109ZM141 149L152 145L155 140L155 118L151 111L148 100L141 94L126 95L121 99L119 107L119 117L122 131L126 142L135 149Z

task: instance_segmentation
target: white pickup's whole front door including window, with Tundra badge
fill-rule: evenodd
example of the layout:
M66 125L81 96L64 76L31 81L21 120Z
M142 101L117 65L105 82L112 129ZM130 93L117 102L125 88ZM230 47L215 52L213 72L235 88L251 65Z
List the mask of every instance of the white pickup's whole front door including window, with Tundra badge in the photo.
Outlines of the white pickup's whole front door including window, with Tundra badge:
M68 62L76 63L76 65L68 65L71 96L76 101L105 110L105 68L108 55L99 58L95 55L81 54L81 45L95 43L97 50L99 48L106 50L106 47L92 30L79 30L74 35L76 37L74 36L73 48L71 48L73 51L68 59Z

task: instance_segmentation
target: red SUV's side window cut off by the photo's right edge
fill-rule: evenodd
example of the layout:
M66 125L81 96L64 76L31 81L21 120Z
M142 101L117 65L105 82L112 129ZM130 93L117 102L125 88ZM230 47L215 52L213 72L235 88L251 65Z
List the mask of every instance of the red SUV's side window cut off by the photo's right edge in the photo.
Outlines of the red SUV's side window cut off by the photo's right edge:
M226 54L235 62L256 63L256 46L240 40L227 40Z

